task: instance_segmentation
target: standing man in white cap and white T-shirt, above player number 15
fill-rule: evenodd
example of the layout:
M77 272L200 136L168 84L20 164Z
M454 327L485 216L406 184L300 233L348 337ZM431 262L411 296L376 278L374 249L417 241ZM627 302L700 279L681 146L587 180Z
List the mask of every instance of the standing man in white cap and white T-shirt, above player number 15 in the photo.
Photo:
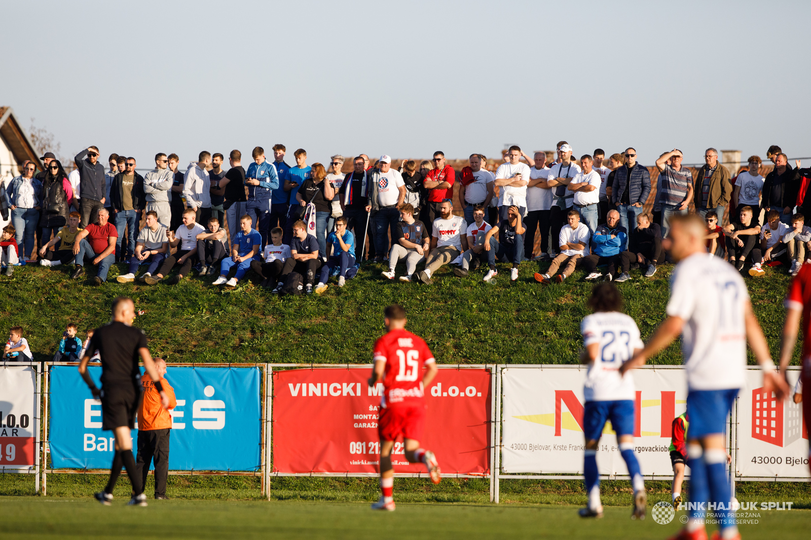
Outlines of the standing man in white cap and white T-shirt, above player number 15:
M388 253L388 234L391 231L393 241L397 242L397 221L400 211L397 209L405 199L405 182L399 171L392 169L391 156L380 156L379 169L371 169L368 177L371 184L367 212L375 219L375 263L383 261L383 254Z

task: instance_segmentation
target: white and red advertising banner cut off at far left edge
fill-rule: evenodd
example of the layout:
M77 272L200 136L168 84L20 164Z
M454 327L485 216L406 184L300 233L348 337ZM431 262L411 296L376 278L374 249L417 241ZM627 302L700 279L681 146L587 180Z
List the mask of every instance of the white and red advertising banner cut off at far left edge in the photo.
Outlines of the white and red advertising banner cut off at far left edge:
M33 469L36 367L0 366L0 469Z

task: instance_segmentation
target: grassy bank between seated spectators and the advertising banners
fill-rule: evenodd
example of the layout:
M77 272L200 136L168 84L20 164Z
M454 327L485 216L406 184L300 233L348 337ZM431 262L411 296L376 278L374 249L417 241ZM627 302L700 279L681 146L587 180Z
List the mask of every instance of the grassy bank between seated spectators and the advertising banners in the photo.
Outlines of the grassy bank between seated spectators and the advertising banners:
M114 277L126 272L122 264L111 269L101 287L71 281L66 266L18 267L13 278L0 276L0 328L22 326L35 359L49 360L68 322L79 324L84 339L86 328L109 320L113 298L126 294L145 311L135 325L149 337L152 354L169 362L369 362L371 346L384 332L384 307L400 302L408 328L423 336L440 363L577 363L580 321L589 313L591 288L582 281L583 272L563 285L543 286L533 279L538 265L527 262L511 284L508 265L502 266L496 285L483 283L483 272L460 279L444 267L427 286L388 281L380 276L382 264L366 264L343 289L330 286L321 296L287 298L251 281L225 291L212 287L209 277L193 276L175 286L120 285ZM632 271L633 280L619 285L625 311L643 338L664 318L671 271L672 265L664 265L652 279ZM398 267L397 272L403 271ZM767 272L746 281L777 358L790 278L784 269ZM95 270L88 268L88 274ZM799 351L800 344L795 363ZM652 362L680 363L678 345Z

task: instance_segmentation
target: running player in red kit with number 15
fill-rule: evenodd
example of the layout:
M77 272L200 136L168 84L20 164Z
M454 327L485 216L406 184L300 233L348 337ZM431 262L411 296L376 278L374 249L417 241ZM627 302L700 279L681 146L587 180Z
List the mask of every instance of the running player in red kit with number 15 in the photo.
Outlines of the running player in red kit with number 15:
M440 466L430 450L419 448L425 428L424 388L436 377L436 362L423 338L405 330L405 310L393 304L386 308L386 334L375 341L369 386L383 382L380 398L380 496L373 510L394 510L392 491L394 469L392 449L394 441L402 435L405 459L409 463L424 463L431 482L440 483ZM423 375L423 367L425 374Z

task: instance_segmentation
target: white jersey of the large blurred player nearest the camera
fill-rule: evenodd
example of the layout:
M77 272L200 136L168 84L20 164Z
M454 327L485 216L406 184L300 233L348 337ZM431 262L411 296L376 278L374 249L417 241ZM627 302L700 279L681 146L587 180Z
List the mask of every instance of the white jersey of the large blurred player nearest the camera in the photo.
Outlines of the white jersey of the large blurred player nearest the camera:
M706 253L676 264L667 315L684 320L681 352L690 390L743 388L749 302L732 264Z

